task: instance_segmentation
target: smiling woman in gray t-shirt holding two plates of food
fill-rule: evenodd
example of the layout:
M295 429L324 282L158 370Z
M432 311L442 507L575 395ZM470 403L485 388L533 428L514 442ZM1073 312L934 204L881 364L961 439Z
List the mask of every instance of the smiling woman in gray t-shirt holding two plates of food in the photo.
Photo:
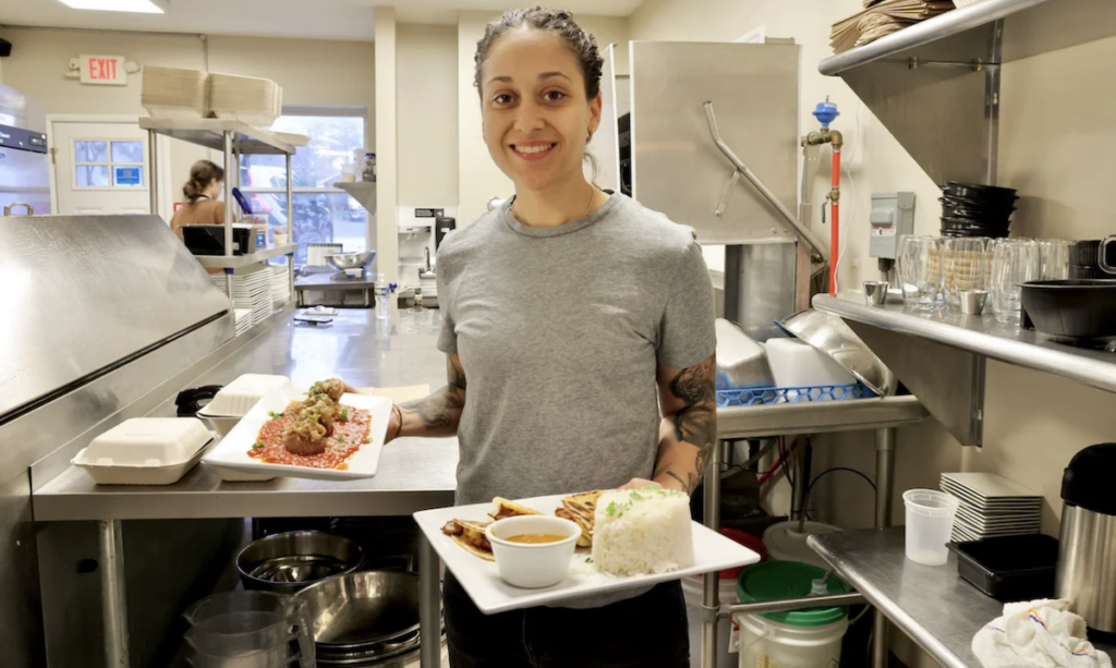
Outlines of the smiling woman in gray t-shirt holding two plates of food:
M713 291L694 233L586 181L603 61L569 13L509 11L475 60L484 141L516 196L443 241L449 385L394 407L388 437L456 435L459 504L692 493L716 432ZM679 582L561 606L484 616L448 572L451 665L689 666Z

